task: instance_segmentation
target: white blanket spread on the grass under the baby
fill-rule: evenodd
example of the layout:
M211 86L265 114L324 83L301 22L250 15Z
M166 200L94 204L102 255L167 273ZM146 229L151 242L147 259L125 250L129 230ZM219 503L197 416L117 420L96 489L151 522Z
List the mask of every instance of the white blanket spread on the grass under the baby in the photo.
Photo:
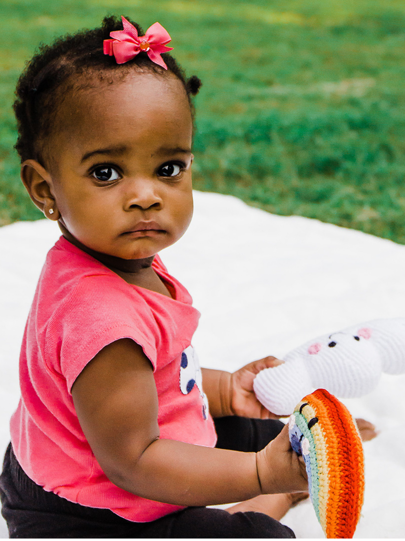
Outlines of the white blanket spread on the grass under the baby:
M405 246L302 217L275 216L238 199L194 193L190 228L161 253L201 315L194 337L201 365L237 370L317 335L374 318L405 315ZM25 319L55 223L0 228L0 452L19 397ZM405 375L344 400L380 435L365 444L366 491L357 538L405 537ZM0 537L7 537L0 519ZM282 520L297 537L323 537L311 503Z

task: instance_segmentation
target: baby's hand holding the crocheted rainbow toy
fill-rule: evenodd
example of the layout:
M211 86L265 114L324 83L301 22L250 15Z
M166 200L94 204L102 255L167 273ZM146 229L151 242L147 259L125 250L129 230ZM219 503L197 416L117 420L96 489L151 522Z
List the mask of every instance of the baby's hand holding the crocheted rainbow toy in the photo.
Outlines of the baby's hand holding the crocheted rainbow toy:
M308 490L304 459L293 451L288 425L264 449L256 453L256 464L263 494Z

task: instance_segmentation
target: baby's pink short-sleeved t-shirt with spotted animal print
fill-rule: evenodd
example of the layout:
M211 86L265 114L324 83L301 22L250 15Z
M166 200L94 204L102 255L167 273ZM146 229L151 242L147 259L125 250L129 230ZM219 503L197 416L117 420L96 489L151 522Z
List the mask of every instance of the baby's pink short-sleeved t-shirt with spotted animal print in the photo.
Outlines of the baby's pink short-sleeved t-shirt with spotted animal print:
M199 312L190 294L153 268L173 298L125 282L60 237L46 257L26 323L19 365L21 400L11 442L25 473L46 491L148 522L181 506L153 502L105 476L83 434L73 382L107 344L131 338L153 365L160 437L213 447L216 434L191 339Z

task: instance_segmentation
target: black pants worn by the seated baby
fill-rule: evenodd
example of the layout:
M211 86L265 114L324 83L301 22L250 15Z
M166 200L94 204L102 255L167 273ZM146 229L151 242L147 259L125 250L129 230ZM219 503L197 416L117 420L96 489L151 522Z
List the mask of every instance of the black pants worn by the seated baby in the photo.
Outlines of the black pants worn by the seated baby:
M280 432L280 421L224 417L215 420L217 447L259 451ZM68 502L46 492L24 473L9 445L0 476L2 514L11 538L292 538L292 530L262 513L227 513L186 507L147 523L109 509Z

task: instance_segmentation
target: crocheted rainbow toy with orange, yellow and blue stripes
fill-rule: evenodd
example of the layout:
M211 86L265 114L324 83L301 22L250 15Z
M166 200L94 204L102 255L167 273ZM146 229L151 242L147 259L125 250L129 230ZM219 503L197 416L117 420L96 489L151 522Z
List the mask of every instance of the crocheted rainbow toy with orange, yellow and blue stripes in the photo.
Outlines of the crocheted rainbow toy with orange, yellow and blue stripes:
M325 536L352 538L364 492L363 448L352 415L318 389L296 406L288 430L305 460L309 497Z

